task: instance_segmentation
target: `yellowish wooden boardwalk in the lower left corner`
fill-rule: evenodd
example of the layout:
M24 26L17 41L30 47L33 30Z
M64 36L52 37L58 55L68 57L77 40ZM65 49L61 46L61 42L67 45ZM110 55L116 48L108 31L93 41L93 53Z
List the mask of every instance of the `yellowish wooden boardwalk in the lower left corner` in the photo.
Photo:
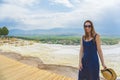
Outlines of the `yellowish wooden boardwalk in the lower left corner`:
M75 80L0 55L0 80Z

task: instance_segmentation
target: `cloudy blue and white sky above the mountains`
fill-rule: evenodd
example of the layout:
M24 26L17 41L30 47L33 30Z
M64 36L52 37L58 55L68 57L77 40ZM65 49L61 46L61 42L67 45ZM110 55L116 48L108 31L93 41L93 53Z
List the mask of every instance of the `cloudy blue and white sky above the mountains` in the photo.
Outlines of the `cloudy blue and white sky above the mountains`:
M120 33L120 0L0 0L0 27L9 29L83 28Z

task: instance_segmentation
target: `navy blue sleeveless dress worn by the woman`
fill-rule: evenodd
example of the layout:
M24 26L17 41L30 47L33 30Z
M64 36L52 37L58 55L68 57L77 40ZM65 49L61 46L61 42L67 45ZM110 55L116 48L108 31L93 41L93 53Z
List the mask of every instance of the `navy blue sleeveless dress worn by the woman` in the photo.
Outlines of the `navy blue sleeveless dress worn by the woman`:
M97 34L96 34L97 35ZM95 37L96 37L95 35ZM94 39L95 39L94 37ZM78 80L100 80L99 79L99 59L97 54L97 46L94 39L83 41L83 69L78 74Z

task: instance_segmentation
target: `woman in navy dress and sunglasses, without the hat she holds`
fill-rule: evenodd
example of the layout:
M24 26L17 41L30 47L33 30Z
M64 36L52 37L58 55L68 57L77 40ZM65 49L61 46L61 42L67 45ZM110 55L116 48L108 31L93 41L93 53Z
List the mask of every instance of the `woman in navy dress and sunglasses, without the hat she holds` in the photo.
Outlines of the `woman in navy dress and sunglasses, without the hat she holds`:
M101 50L100 35L95 32L90 20L84 22L84 31L85 35L81 39L78 80L100 80L98 55L103 68L106 68Z

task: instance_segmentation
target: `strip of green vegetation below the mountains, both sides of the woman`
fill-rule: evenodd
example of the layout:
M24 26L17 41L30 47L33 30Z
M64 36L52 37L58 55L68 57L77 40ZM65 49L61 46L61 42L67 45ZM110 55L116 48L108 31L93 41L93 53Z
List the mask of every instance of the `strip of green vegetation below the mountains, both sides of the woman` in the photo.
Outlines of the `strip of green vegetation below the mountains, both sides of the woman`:
M17 36L17 38L25 39L25 40L35 40L42 43L49 44L63 44L63 45L79 45L81 36L52 36L52 35L43 35L43 36ZM110 38L110 37L102 37L102 44L104 45L114 45L118 44L120 38Z

